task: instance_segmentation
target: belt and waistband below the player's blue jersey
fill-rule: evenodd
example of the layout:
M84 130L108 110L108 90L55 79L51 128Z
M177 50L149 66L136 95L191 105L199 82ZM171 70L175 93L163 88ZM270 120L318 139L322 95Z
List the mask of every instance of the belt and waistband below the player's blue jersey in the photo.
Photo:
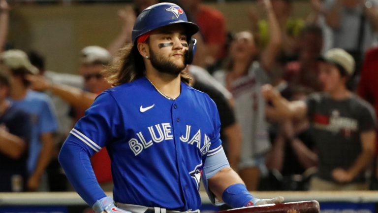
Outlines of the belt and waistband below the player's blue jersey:
M117 207L123 210L129 211L131 213L200 213L199 210L188 210L185 212L174 211L174 210L167 210L160 207L146 207L146 206L139 206L134 204L123 204L117 203Z

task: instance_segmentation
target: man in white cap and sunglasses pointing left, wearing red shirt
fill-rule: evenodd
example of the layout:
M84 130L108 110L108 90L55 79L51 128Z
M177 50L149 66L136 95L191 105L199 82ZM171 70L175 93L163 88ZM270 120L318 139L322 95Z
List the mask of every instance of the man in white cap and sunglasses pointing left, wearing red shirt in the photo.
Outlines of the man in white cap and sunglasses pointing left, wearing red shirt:
M101 71L112 61L110 53L99 46L87 46L81 50L80 74L84 78L86 90L77 87L64 85L62 83L49 81L43 76L28 76L35 90L48 90L60 97L67 103L78 109L78 116L84 114L84 110L89 108L96 96L102 91L110 88L110 84L103 78ZM112 175L110 172L110 158L106 148L101 149L91 158L92 166L96 178L101 187L106 191L111 191Z

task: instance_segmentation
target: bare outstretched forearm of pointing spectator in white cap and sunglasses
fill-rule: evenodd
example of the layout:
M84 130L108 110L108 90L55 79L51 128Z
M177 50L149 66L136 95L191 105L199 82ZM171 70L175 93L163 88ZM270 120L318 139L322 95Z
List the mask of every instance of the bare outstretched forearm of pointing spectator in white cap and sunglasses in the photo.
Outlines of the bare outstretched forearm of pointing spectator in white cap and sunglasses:
M79 88L61 84L53 84L50 89L55 95L68 102L70 105L84 110L93 104L97 96L94 93L85 92Z

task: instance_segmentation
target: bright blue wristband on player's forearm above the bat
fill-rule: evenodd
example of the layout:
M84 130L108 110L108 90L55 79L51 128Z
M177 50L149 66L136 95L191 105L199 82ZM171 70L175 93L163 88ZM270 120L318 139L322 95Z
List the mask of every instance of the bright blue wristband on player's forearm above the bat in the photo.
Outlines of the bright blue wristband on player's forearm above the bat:
M244 184L237 183L224 190L222 200L232 208L240 208L253 206L259 199L253 197Z

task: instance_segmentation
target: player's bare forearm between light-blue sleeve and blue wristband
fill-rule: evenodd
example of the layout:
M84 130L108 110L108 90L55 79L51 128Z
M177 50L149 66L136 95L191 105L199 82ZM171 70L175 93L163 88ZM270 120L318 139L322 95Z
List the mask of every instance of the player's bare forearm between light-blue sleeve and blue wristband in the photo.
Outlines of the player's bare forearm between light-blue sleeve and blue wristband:
M222 194L224 190L233 184L242 183L243 180L239 175L233 171L231 168L223 168L216 175L214 175L209 180L209 189L215 194L218 199L222 199Z

